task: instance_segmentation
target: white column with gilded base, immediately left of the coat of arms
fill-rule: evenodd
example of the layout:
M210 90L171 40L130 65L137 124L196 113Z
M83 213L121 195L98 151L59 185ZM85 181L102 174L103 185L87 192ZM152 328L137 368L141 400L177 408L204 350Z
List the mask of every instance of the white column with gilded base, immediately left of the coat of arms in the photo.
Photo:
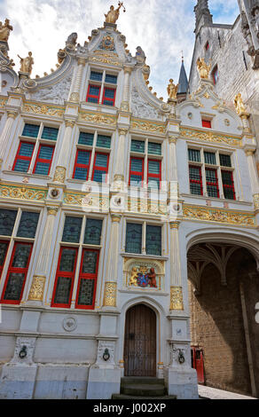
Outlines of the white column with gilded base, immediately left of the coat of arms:
M119 226L121 215L112 214L112 226L109 240L108 259L106 265L106 284L104 294L104 307L116 307L117 279L118 279L118 251Z

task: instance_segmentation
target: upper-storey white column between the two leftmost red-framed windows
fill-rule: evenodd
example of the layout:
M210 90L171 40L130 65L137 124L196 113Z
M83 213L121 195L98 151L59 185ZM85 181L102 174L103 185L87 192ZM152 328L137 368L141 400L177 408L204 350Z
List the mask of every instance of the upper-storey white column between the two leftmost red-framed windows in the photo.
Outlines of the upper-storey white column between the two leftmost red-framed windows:
M71 136L72 136L73 128L75 126L75 121L66 120L65 123L66 123L66 130L65 130L64 138L62 140L62 147L59 152L58 164L57 164L55 174L53 177L53 181L55 183L61 183L61 184L64 184L65 179L66 179L67 163L68 163L70 145L71 145Z

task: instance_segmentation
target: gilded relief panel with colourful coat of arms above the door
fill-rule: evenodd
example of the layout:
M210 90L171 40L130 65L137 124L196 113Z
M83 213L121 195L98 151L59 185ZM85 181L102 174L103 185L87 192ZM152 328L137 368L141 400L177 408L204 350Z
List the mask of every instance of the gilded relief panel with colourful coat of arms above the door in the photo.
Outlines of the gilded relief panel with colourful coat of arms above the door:
M165 264L156 259L124 258L124 286L140 291L164 289Z

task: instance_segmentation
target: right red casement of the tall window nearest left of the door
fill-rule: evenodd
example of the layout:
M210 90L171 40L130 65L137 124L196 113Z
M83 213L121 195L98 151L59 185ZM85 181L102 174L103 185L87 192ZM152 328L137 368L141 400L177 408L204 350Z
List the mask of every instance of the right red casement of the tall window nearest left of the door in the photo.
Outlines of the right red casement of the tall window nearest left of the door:
M82 250L82 261L76 295L76 309L94 310L98 279L99 251Z

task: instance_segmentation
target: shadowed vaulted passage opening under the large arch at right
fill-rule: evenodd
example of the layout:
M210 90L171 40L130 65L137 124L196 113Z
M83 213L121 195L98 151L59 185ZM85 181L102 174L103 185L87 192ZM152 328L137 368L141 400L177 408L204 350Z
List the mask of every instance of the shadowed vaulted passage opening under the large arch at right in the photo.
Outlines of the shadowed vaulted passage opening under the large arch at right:
M188 278L192 346L203 350L205 383L257 397L255 257L239 244L203 240L189 248Z

